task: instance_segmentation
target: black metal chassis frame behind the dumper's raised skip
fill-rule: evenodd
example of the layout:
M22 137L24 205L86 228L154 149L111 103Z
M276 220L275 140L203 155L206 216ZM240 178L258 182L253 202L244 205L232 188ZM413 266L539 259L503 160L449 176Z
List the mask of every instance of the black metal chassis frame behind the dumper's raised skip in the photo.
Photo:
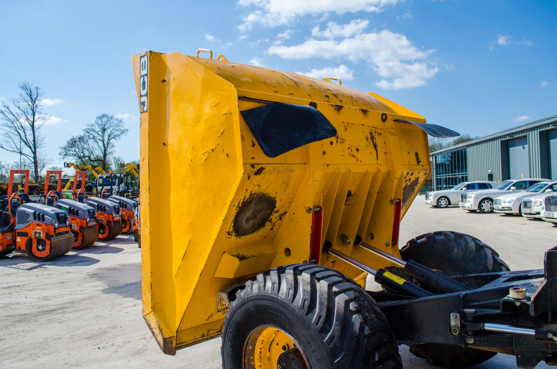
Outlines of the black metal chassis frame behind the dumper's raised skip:
M557 365L557 246L546 251L544 263L543 270L443 272L473 288L461 292L423 298L369 294L399 343L509 353L520 368L534 368L542 360Z

